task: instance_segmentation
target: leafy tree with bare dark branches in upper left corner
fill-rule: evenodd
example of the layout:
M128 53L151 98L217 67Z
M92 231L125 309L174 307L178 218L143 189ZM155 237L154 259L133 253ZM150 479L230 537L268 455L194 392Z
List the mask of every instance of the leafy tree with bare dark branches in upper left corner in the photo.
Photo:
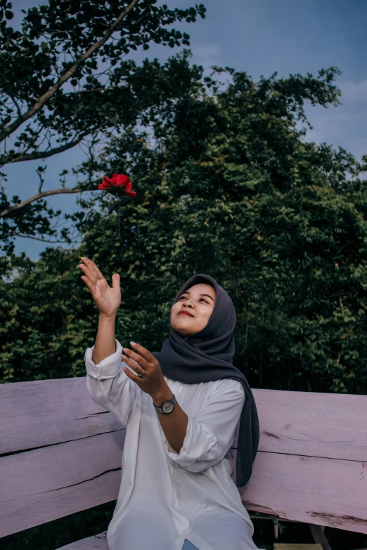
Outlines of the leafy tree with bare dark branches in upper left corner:
M149 110L159 110L179 80L163 82L155 63L138 67L124 60L151 41L169 46L189 44L186 33L167 25L205 17L205 7L169 9L156 0L49 0L25 13L22 31L8 24L11 3L0 2L0 168L15 162L45 160L84 143L93 161L98 146L136 124ZM173 90L171 89L173 88ZM12 251L13 238L44 240L58 235L50 221L61 211L47 209L44 197L80 193L86 188L60 186L42 190L46 166L39 165L38 192L21 200L0 190L0 240ZM6 173L0 172L6 179ZM53 185L55 187L55 185ZM30 193L31 195L31 193ZM37 237L36 235L39 235ZM69 230L60 236L67 240Z

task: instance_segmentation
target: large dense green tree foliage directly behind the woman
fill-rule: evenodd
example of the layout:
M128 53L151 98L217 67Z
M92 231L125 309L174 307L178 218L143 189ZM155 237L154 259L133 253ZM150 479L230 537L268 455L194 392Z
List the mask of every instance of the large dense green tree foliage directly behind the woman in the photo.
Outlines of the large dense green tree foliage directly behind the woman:
M70 216L84 235L77 251L13 256L2 380L84 376L98 320L77 268L87 256L107 280L120 273L123 345L160 349L177 289L207 273L235 303L235 364L253 387L366 393L366 164L306 143L296 126L305 100L337 104L338 71L254 82L230 69L203 77L187 53L155 63L186 85L147 114L146 129L131 125L79 167L86 180L131 177L138 196L124 206L122 236L101 192Z

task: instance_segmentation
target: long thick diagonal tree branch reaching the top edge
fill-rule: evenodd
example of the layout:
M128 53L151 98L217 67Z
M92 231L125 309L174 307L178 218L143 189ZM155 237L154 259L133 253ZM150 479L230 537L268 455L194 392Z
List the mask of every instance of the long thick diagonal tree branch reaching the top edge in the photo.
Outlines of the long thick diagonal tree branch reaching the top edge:
M84 61L88 58L91 57L91 55L95 52L95 51L98 51L99 48L101 48L101 46L103 46L103 44L105 44L106 41L108 41L108 39L110 38L111 34L115 31L115 29L118 27L118 25L120 25L120 22L122 21L122 19L124 18L125 15L127 15L127 13L129 13L129 11L132 10L132 8L134 8L135 4L137 4L139 0L132 0L131 4L129 6L127 6L127 8L125 8L121 13L120 15L118 16L117 20L115 20L114 23L112 23L112 25L110 25L108 27L108 30L105 32L105 34L103 34L103 37L101 38L101 40L98 40L96 41L90 48L89 50L87 50L85 53L83 53L83 55L81 55L79 57L79 59L77 59L75 61L75 63L70 67L69 70L67 70L67 72L65 72L63 74L62 77L60 77L60 79L58 79L58 81L56 82L56 84L54 84L54 86L52 86L49 91L47 91L46 93L44 93L43 96L41 96L36 103L34 103L33 107L31 107L29 110L27 110L27 112L23 113L20 117L18 117L18 119L16 119L12 124L10 124L9 126L5 126L4 129L2 131L0 131L0 143L1 141L3 141L5 138L7 138L8 136L11 135L11 133L13 133L13 131L15 131L16 129L19 128L19 126L25 122L26 120L30 119L31 117L33 117L34 114L36 114L37 111L39 111L41 109L41 107L44 106L44 104L49 100L49 98L51 98L53 96L54 93L56 93L56 91L58 91L58 89L64 84L64 82L66 82L68 79L70 79L70 77L72 77L72 74L75 73L75 71L77 70L77 68L79 67L79 65L81 65L82 63L84 63Z

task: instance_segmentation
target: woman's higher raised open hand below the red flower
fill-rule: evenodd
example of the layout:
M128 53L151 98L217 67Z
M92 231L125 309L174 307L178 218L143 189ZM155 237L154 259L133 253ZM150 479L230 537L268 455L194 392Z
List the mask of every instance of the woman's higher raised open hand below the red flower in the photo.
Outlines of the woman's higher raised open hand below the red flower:
M84 271L84 275L80 278L86 282L99 312L108 317L116 315L121 303L120 275L118 273L112 275L112 287L110 287L94 262L85 256L82 256L82 261L84 263L81 263L79 268Z

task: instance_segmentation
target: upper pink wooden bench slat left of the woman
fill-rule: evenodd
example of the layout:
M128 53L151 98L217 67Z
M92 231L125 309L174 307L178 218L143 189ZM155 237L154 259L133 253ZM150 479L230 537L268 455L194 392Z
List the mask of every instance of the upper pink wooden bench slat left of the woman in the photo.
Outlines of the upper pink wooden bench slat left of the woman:
M122 427L91 400L85 377L0 384L0 419L0 454Z

